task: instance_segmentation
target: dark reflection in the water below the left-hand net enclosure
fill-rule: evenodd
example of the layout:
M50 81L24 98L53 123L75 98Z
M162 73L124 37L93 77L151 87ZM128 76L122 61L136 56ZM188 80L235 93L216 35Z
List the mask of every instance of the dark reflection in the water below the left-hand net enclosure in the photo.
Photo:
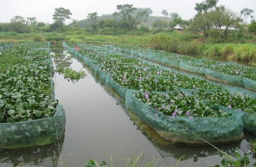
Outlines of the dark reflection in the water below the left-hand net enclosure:
M60 152L64 142L64 136L60 139ZM58 142L20 149L0 149L0 161L4 166L33 165L57 167L60 157ZM8 165L7 165L8 164Z

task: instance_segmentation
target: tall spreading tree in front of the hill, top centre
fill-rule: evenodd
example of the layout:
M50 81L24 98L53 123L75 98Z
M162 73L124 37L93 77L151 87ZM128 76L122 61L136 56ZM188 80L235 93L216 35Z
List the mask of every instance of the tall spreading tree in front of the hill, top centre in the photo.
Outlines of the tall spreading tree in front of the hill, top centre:
M136 10L132 4L118 5L116 6L116 9L118 12L114 12L113 16L120 16L123 20L127 20L130 13Z

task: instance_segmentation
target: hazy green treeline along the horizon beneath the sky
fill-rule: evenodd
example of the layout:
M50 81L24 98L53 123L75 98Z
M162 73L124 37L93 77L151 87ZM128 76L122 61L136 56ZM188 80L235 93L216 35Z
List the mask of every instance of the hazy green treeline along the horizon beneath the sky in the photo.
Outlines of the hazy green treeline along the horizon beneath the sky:
M72 19L69 25L65 25L65 21L71 19L70 10L55 8L52 24L38 22L35 17L25 19L22 16L15 16L10 23L0 24L0 31L74 33L79 29L80 33L82 29L87 33L101 35L144 35L178 29L182 38L186 31L198 34L198 37L203 35L207 39L214 38L219 42L228 41L230 38L241 38L248 33L256 34L256 18L253 10L244 8L238 14L225 6L217 6L217 3L218 0L196 3L194 9L197 14L190 20L184 20L178 13L168 13L167 10L162 10L164 17L150 16L152 14L150 8L135 8L132 4L120 4L116 6L116 12L113 14L98 16L97 12L93 12L84 20Z

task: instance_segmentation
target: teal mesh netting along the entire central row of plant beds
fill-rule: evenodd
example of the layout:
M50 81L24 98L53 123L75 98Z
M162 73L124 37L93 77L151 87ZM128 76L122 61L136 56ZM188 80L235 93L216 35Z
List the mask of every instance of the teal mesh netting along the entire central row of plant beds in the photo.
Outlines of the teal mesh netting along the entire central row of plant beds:
M66 43L63 43L63 46L65 49L70 51L70 53L74 53L74 49L66 45ZM114 48L112 50L116 49L115 47L111 48ZM76 54L78 53L74 53L74 55ZM132 54L139 57L143 55L131 50L131 55ZM80 59L84 60L84 63L90 67L94 74L99 76L100 80L105 84L106 87L114 90L114 92L118 94L120 98L125 100L127 108L138 114L142 120L154 128L154 130L156 130L156 132L162 138L168 141L172 141L174 143L200 145L205 144L205 141L203 141L201 138L209 141L210 143L226 143L239 140L243 137L243 122L241 117L243 116L244 112L238 113L236 110L219 106L225 112L233 113L232 116L220 118L193 118L192 120L187 117L165 116L138 100L132 94L132 92L136 90L130 90L116 83L110 77L110 75L100 70L96 62L90 61L88 58L86 58L86 55L84 55L84 57L80 57ZM175 63L178 66L177 61L174 61L174 64ZM193 92L198 91L195 89L182 90L191 95ZM244 116L242 118L245 119ZM199 135L201 138L194 135L192 132Z

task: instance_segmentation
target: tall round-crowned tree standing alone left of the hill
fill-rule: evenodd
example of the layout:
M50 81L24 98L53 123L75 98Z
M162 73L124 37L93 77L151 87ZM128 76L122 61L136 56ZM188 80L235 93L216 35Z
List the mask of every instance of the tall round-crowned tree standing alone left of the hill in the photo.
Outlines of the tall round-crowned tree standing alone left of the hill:
M55 20L55 22L59 21L61 23L61 27L62 27L65 20L70 19L70 15L72 15L72 13L70 12L69 9L55 8L54 14L52 16L53 16L53 20Z

